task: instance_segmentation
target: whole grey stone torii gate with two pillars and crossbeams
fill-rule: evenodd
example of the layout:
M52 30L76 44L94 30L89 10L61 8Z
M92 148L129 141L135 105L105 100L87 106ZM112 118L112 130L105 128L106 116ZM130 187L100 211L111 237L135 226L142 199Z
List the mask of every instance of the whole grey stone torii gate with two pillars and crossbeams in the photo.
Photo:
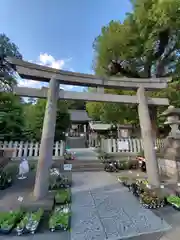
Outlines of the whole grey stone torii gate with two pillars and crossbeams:
M116 103L132 103L138 105L138 114L141 134L144 145L145 158L147 159L147 174L149 183L159 187L159 172L154 150L152 125L148 105L169 105L166 98L148 98L145 91L159 90L167 87L169 78L161 79L135 79L135 78L100 78L94 75L74 73L57 70L26 61L7 58L16 66L18 74L24 79L49 82L46 88L15 87L14 93L20 96L47 98L46 110L41 137L40 154L34 187L36 200L43 198L48 192L49 168L52 164L52 152L56 125L56 108L58 99L74 99L85 101L101 101ZM96 93L76 93L59 89L59 84L97 87ZM104 88L133 89L137 91L134 96L104 94Z

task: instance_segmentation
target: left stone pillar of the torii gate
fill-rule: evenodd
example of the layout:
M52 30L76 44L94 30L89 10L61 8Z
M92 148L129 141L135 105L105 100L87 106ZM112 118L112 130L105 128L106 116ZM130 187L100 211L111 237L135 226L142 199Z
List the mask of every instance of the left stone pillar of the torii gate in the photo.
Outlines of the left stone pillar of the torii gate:
M40 200L46 196L49 188L49 169L52 164L54 135L56 127L56 110L59 94L59 83L55 77L49 82L46 110L44 115L39 159L34 186L34 198Z

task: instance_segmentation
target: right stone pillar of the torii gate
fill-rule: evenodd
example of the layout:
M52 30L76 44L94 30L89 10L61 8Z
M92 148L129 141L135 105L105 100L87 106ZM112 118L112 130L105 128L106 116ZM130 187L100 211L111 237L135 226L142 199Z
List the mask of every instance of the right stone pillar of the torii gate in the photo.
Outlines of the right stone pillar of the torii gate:
M148 102L145 96L145 90L143 86L139 87L139 89L137 90L137 98L138 98L139 122L141 127L141 135L143 139L148 181L152 187L159 188L160 179L158 162L156 159L156 152L154 149L154 139L148 109Z

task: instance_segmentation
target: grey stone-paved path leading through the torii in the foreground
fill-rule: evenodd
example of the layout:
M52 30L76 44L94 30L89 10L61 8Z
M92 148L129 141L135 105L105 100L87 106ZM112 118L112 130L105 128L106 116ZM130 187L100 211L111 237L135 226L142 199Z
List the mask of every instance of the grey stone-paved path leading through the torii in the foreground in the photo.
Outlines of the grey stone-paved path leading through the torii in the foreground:
M73 182L71 240L118 240L171 228L109 173L74 173Z

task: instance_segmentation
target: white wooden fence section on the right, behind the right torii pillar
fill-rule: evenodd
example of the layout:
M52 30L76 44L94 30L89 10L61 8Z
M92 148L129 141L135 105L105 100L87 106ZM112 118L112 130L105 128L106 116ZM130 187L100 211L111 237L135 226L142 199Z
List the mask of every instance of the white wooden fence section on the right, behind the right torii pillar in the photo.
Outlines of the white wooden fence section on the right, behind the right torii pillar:
M118 145L126 143L125 149L119 149ZM164 139L156 140L156 147L162 148ZM130 152L138 153L143 149L143 141L138 138L125 138L125 139L101 139L101 150L107 153L112 152Z

